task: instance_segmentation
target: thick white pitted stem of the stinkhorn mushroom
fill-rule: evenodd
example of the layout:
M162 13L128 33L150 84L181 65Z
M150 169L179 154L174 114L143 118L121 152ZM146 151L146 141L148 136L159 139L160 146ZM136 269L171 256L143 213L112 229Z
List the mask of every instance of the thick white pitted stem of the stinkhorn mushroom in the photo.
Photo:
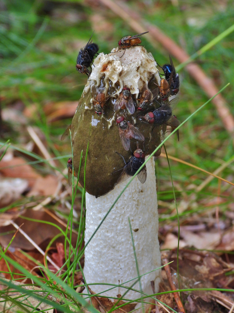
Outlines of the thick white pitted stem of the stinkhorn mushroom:
M84 276L87 284L123 284L138 276L134 257L129 219L133 230L136 258L139 273L143 275L161 266L158 243L158 205L154 160L146 164L147 179L141 184L137 177L130 183L118 202L105 218L95 236L85 249ZM95 198L86 193L85 244L110 209L112 203L127 184L124 181L106 195ZM152 294L150 281L154 280L158 291L160 269L141 277L142 291ZM125 286L131 286L130 281ZM92 285L91 290L100 293L110 288L108 285ZM140 290L139 282L134 289ZM116 297L123 295L125 288L114 288L102 295ZM129 290L125 299L135 300L139 292Z

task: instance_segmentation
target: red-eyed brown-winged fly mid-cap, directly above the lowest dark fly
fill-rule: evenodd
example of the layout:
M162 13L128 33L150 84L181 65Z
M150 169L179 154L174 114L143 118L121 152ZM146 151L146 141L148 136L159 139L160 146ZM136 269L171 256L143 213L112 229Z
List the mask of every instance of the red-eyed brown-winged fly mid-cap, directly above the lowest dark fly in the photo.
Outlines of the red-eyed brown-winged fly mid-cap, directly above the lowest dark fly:
M127 122L124 116L117 117L116 123L119 126L119 136L125 150L128 151L130 149L130 139L145 140L142 133L131 123Z

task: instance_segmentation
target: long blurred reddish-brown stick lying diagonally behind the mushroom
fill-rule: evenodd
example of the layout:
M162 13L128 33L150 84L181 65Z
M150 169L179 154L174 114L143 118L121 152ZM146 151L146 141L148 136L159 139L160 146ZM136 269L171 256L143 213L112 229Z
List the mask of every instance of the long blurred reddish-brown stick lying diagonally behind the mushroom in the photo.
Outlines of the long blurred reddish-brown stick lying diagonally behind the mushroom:
M134 12L133 8L128 8L122 1L113 2L112 0L99 0L100 3L110 8L116 15L122 18L126 23L133 28L136 33L144 33L153 46L160 43L169 54L173 55L178 61L185 62L188 60L189 55L180 48L172 39L168 38L157 26L151 25L146 22L140 15ZM188 73L197 81L198 85L202 87L209 98L217 94L218 89L211 78L207 77L203 70L195 63L187 64L185 67ZM234 118L227 107L227 103L222 95L217 95L213 100L217 112L222 120L225 129L232 135L234 139Z

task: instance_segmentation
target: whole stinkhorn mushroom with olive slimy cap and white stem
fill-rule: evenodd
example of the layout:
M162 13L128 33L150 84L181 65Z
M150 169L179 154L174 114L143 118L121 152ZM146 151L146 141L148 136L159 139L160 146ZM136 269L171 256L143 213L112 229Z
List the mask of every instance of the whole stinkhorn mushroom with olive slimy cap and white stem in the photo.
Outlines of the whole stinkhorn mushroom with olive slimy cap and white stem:
M86 169L83 153L79 176L80 184L84 186L85 180L86 188L85 243L122 191L127 183L125 179L136 172L131 158L141 158L144 162L144 154L152 153L163 140L165 125L178 125L168 100L158 102L161 101L161 78L157 63L151 53L137 45L140 42L139 35L126 36L110 54L100 53L96 57L72 120L72 162L75 172L79 172L81 150L86 151L88 147ZM162 115L166 114L161 122L153 118L157 110ZM144 114L152 112L151 119L139 117L142 111ZM159 149L155 156L159 156L160 152ZM138 175L139 179L134 178L85 249L84 276L88 285L119 285L138 276L129 220L134 230L140 275L161 266L153 159L147 162L144 172L145 179L140 178L142 173ZM152 280L157 292L159 269L141 277L144 293L152 293ZM125 286L132 283L130 281ZM107 285L92 285L95 293L109 288ZM134 288L139 290L139 283ZM116 287L103 295L116 297L124 291L126 289ZM134 300L140 294L129 290L125 297Z

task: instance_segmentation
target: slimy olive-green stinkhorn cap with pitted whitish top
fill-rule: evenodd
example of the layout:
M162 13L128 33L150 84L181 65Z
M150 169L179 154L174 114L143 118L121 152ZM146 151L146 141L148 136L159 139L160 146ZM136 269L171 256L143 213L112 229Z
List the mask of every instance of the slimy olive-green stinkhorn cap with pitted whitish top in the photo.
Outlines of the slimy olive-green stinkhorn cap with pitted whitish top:
M79 182L82 187L85 183L86 192L94 196L102 196L114 188L125 166L119 154L124 157L125 162L132 156L131 151L134 152L137 147L150 154L161 143L162 134L165 132L165 126L154 126L140 121L138 116L143 114L139 114L137 109L133 115L129 115L127 109L114 112L113 101L118 98L125 85L130 88L136 103L145 83L150 90L160 84L157 64L151 53L142 46L126 49L122 56L123 52L123 49L117 48L114 53L100 53L95 59L71 124L74 171L78 174L83 150ZM95 113L92 85L105 86L107 90L101 115ZM116 117L119 115L124 115L126 121L134 124L145 137L144 142L131 139L131 151L124 150L122 146L119 126L116 124ZM155 156L160 155L160 152L158 150Z

